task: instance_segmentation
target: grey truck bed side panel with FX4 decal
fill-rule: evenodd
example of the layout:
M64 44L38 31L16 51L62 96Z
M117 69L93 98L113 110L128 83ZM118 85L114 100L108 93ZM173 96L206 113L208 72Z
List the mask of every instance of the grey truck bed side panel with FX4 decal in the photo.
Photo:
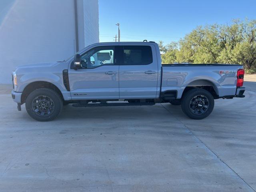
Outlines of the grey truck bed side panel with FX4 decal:
M170 68L172 67L172 68ZM187 86L213 86L219 97L236 94L239 64L163 64L161 91L176 90L177 98Z

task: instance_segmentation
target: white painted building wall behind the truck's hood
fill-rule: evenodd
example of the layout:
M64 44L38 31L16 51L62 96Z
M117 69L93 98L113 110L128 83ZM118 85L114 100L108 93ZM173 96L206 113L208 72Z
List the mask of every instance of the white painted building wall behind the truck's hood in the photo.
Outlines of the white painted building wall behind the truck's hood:
M0 6L0 83L11 83L18 65L63 60L76 52L74 0L7 1ZM77 5L82 49L99 41L98 0Z

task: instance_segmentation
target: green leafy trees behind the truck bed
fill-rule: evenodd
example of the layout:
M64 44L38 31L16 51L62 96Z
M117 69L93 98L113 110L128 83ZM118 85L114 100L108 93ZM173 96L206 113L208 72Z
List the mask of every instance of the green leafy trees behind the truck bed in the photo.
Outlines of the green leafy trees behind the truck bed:
M256 20L198 26L179 42L159 45L163 63L235 63L256 70Z

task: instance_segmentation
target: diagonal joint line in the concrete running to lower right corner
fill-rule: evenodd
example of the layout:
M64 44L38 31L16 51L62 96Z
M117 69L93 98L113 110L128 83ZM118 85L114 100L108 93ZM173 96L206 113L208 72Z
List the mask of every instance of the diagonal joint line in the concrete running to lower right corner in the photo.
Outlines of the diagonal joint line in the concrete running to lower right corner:
M254 91L253 91L254 92ZM162 103L160 103L162 105ZM163 105L162 105L163 106ZM165 106L163 106L163 108L165 108L174 118L176 118L172 112L170 112ZM209 146L207 146L206 143L204 143L200 138L198 138L198 136L196 136L191 130L190 128L188 128L188 126L186 126L181 120L179 120L178 118L176 118L176 120L178 120L195 138L197 138L202 144L204 144L204 146L206 146L206 148L208 148L208 150L210 150L222 163L224 163L228 168L230 168L230 170L232 170L232 172L234 172L241 180L244 181L244 183L246 183L254 192L256 192L256 190L254 190L254 188L252 188L252 186L250 186L250 184L248 184L235 170L233 170L226 162L224 162L224 160L222 160Z

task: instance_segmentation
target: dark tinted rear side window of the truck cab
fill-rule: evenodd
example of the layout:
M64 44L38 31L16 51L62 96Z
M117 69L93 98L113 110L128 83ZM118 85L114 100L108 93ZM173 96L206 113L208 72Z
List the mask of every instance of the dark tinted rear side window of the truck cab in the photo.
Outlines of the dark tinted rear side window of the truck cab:
M124 65L148 65L152 62L150 46L124 46Z

